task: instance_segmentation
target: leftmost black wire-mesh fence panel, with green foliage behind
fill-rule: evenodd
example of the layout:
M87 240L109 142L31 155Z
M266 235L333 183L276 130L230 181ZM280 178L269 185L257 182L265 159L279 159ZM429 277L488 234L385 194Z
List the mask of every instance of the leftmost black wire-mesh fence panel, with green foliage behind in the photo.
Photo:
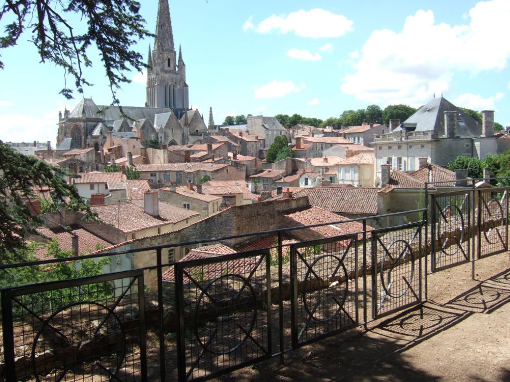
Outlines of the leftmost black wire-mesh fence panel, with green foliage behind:
M147 380L143 270L2 290L6 380Z

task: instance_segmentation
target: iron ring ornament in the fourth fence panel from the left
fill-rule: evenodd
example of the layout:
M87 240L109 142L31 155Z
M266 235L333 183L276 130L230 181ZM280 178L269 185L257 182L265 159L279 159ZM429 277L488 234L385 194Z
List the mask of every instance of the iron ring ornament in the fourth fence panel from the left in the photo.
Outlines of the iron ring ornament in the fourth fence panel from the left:
M391 251L396 251L398 256L394 257L390 253ZM410 255L409 257L407 255ZM390 258L389 260L387 258ZM386 263L388 262L389 268L386 271ZM393 271L405 264L409 263L409 270L408 275L405 277L402 275L401 277L398 277L396 279L393 278L392 274ZM386 275L385 275L386 272ZM392 298L399 298L402 297L407 290L409 290L409 285L403 280L403 277L407 280L409 284L412 283L412 280L414 278L414 254L413 250L411 249L411 246L409 243L407 243L404 240L395 240L391 243L391 245L388 247L388 249L385 251L384 256L382 257L381 261L381 271L380 271L380 278L381 278L381 285L382 289L386 292L387 296L390 296ZM399 288L398 286L402 286ZM400 290L397 293L392 293L392 290Z

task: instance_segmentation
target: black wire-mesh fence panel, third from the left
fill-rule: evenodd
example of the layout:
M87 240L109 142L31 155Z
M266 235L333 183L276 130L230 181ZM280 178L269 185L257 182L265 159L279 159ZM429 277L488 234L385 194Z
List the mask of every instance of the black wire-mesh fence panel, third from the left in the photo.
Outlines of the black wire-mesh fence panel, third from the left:
M291 245L292 347L359 324L358 235Z

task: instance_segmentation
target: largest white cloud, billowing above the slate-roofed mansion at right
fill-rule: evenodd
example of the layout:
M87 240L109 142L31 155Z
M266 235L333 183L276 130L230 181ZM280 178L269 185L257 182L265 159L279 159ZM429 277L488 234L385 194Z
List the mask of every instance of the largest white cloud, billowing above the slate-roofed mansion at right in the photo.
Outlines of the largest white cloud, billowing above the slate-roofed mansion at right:
M372 32L352 64L354 73L342 78L342 91L368 102L419 105L446 91L455 72L505 68L510 45L499 37L507 34L510 2L480 2L469 16L469 24L449 25L419 10L401 32Z

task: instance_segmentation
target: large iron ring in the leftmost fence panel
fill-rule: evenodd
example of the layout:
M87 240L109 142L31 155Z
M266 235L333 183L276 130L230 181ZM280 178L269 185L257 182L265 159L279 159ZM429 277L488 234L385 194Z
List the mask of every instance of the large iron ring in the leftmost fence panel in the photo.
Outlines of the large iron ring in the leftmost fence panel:
M50 348L45 346L48 343ZM74 371L91 373L94 380L103 380L102 376L111 380L116 378L125 352L126 336L118 315L106 305L81 301L65 305L44 320L32 345L32 367L38 382L42 375L63 380ZM40 362L36 353L52 354L53 363L46 357Z

